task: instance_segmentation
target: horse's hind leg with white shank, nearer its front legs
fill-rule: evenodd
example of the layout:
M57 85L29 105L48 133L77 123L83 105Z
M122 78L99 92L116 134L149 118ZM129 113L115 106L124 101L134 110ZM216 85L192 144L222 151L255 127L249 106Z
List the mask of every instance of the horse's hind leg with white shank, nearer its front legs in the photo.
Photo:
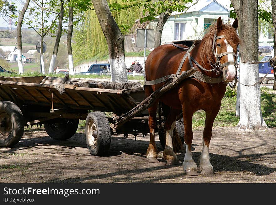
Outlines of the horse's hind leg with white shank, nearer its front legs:
M175 128L175 122L177 115L180 114L179 110L171 109L170 113L165 122L165 130L166 130L166 146L163 151L163 156L167 159L168 164L177 164L177 155L173 151L173 130Z

